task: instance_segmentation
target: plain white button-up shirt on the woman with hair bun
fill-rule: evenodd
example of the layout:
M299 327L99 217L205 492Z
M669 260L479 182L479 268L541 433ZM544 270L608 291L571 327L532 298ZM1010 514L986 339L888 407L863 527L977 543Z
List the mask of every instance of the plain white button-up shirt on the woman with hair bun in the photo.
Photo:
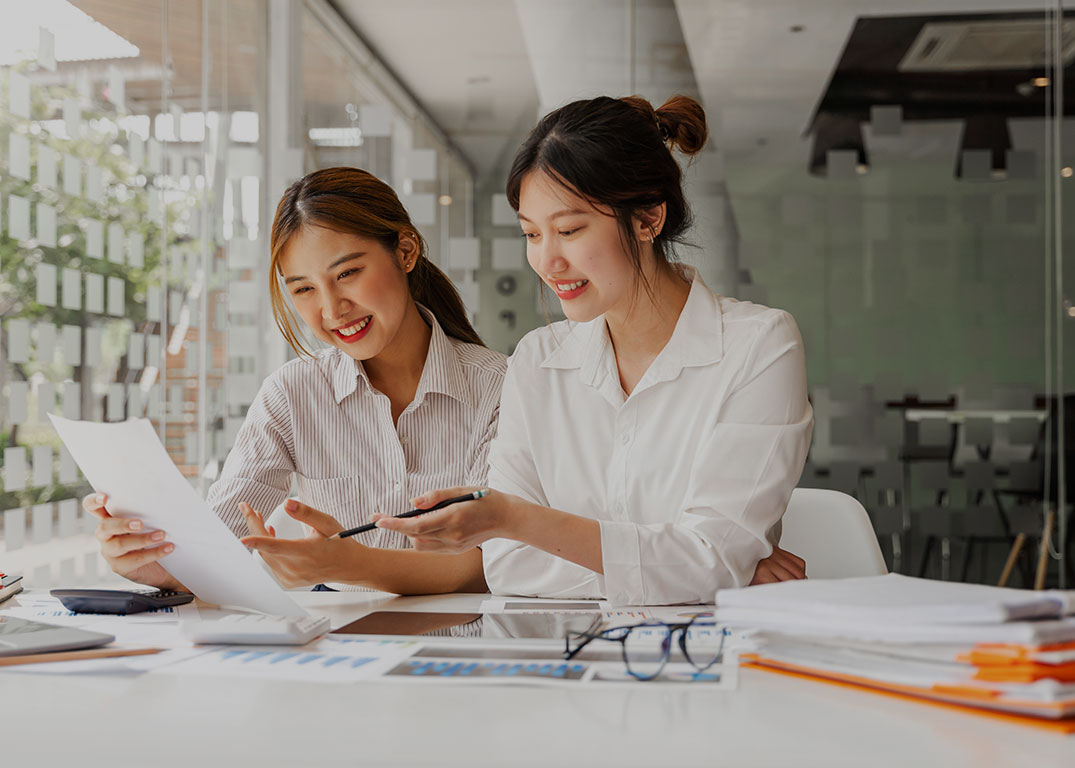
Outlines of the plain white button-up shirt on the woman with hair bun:
M604 574L506 539L483 546L501 594L712 602L772 553L813 429L787 312L690 294L625 397L604 317L527 335L507 367L489 485L601 525Z

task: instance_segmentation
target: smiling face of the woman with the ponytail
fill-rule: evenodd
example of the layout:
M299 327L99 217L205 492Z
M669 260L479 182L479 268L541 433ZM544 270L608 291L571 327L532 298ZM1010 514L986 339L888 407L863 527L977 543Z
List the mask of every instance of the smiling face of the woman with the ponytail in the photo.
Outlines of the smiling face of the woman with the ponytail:
M314 336L369 360L400 333L413 303L406 272L416 258L417 243L405 233L393 253L372 238L304 226L287 243L280 268Z

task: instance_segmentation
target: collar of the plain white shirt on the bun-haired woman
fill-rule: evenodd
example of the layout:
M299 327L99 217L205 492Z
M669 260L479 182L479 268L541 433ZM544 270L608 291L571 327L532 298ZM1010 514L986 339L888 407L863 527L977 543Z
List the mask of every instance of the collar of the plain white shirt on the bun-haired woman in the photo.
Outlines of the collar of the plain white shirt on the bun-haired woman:
M650 366L650 383L674 379L684 368L707 366L723 357L723 317L720 298L706 287L698 270L687 265L675 269L690 281L690 293L668 344ZM542 368L577 368L582 380L594 386L601 374L615 368L612 340L604 316L577 323L563 342L542 361Z

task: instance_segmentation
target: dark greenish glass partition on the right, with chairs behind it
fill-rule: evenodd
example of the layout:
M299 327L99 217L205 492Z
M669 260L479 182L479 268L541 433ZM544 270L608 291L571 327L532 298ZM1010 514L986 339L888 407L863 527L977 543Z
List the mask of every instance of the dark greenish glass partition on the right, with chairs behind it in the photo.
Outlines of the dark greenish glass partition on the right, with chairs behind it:
M735 295L790 311L805 342L801 484L856 496L894 571L1071 585L1075 16L676 4L716 117Z

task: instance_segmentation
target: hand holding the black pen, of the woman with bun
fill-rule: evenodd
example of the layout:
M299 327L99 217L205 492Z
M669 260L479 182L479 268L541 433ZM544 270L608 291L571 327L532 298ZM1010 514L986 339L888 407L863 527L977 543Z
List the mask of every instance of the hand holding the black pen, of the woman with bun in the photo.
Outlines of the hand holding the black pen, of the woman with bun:
M479 488L442 488L412 499L416 509L428 509L444 499L462 496ZM419 552L459 554L489 539L508 536L514 512L522 499L489 490L473 501L460 501L443 510L417 517L374 515L373 522L386 530L397 530L411 540Z

